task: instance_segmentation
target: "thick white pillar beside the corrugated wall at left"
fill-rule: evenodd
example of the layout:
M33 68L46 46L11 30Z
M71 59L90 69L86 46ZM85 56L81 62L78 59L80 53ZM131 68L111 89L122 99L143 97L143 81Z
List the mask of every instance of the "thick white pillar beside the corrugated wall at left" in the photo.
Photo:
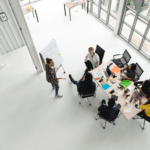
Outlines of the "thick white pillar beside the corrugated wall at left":
M19 0L8 0L8 2L11 4L11 8L14 12L14 16L18 22L19 27L21 28L21 32L23 34L25 43L31 55L32 61L35 65L35 68L37 69L38 72L42 72L43 71L42 65L38 57L36 48L34 46L22 9L20 7Z

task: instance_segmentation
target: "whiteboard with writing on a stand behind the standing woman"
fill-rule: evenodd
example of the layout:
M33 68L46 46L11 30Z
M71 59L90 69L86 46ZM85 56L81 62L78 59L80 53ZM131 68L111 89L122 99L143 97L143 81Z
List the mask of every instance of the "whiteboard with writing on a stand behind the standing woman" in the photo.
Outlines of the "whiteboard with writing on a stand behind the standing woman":
M63 62L63 58L59 52L55 39L53 39L40 53L45 61L46 58L53 59L55 67L59 67Z

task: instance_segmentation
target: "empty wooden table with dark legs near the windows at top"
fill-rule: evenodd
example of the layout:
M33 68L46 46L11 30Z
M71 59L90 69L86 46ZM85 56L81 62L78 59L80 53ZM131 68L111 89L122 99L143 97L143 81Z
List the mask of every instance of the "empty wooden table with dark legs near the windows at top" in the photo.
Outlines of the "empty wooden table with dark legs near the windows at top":
M69 16L70 16L70 21L71 21L71 11L70 9L71 8L74 8L78 5L81 5L82 4L82 9L83 9L83 4L87 2L87 14L88 14L88 11L89 11L89 0L79 0L78 2L75 2L75 1L72 1L72 2L65 2L64 3L64 13L65 13L65 16L66 16L66 7L69 8Z

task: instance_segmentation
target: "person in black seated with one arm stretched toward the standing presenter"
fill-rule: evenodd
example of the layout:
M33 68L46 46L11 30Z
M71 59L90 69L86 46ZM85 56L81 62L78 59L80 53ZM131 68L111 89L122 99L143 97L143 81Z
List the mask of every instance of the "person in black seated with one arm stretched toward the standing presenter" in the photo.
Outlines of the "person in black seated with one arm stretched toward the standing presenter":
M93 82L93 77L90 73L87 73L85 76L82 77L82 79L77 82L75 81L72 76L69 74L69 78L72 83L77 85L77 90L79 92L79 95L88 95L88 94L94 94L96 91L96 84Z

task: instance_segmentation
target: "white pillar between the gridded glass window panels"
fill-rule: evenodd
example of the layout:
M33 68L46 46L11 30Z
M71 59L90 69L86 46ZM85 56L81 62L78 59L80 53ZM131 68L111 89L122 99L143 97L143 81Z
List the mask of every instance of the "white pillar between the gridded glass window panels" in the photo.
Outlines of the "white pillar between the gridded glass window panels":
M119 33L119 28L120 28L120 24L122 21L122 14L124 12L124 4L125 4L126 0L120 0L119 3L119 9L117 12L117 20L116 20L116 26L115 26L115 30L114 30L114 34L117 35Z

